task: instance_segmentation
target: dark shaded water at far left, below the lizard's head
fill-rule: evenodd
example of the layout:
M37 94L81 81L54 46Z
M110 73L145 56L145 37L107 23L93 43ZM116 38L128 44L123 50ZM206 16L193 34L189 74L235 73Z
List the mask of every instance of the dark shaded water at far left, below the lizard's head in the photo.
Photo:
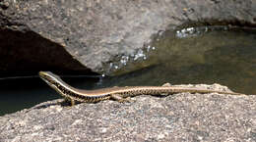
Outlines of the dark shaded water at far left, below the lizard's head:
M37 78L0 80L0 115L29 108L42 101L56 99Z

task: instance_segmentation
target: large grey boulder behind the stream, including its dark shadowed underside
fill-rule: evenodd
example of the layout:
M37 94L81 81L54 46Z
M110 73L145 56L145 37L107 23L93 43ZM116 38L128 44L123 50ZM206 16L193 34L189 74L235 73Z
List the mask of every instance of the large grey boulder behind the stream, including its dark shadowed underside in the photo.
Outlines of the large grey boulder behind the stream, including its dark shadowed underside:
M200 24L255 26L256 2L4 0L0 71L41 70L40 64L45 69L107 72L120 61L116 57L137 59L161 31Z

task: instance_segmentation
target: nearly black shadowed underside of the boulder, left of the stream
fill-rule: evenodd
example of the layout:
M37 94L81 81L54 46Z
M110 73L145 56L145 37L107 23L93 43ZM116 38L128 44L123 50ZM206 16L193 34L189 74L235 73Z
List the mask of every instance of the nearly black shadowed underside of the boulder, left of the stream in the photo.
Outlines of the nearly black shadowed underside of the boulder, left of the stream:
M63 47L32 31L22 33L0 29L0 54L0 77L5 74L23 74L23 71L90 72Z

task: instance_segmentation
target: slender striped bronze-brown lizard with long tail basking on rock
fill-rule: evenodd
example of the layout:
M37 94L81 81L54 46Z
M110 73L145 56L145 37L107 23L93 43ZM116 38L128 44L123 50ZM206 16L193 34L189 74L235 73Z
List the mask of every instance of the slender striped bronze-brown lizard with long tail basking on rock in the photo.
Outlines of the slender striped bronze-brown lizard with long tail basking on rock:
M220 93L230 95L244 95L234 92L225 92L201 88L186 88L178 86L129 86L129 87L112 87L97 90L82 90L74 88L65 83L58 75L50 71L39 71L39 76L71 105L78 102L96 103L102 100L113 99L118 102L129 101L127 98L137 95L162 95L175 94L181 92L189 93Z

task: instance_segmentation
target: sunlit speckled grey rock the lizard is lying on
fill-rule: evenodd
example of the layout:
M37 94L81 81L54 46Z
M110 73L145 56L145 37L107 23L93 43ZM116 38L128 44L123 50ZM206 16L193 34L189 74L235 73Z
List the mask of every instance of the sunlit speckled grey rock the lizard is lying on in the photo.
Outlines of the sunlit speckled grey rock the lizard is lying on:
M190 87L191 85L189 85ZM228 90L214 85L209 89ZM179 93L62 107L54 100L0 117L0 141L256 141L256 96Z

